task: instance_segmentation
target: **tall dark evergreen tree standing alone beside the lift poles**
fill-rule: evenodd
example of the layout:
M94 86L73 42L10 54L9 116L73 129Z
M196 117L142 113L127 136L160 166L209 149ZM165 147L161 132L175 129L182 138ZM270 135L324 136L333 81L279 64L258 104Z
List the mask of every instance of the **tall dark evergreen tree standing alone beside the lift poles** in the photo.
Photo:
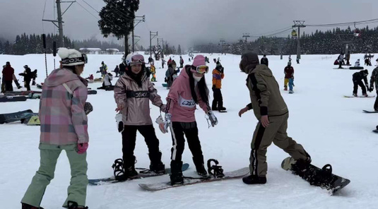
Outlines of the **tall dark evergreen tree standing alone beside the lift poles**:
M104 0L106 6L102 7L98 20L102 35L108 37L113 34L118 39L125 39L125 54L129 53L127 38L134 30L135 12L139 8L139 0Z

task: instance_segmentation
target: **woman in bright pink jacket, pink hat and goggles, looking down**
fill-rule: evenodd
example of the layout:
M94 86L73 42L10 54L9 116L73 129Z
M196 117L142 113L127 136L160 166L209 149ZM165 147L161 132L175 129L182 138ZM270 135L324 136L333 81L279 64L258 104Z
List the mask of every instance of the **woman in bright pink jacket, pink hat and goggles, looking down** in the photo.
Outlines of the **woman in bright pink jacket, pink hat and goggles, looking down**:
M194 117L196 104L199 104L199 107L210 119L211 126L218 124L218 120L208 104L208 88L204 76L207 72L208 66L206 66L205 57L197 55L194 57L193 64L184 66L167 95L167 110L163 130L167 132L170 129L172 134L171 185L183 184L184 182L181 169L185 144L184 135L187 137L197 173L203 177L207 176L198 136L199 130Z

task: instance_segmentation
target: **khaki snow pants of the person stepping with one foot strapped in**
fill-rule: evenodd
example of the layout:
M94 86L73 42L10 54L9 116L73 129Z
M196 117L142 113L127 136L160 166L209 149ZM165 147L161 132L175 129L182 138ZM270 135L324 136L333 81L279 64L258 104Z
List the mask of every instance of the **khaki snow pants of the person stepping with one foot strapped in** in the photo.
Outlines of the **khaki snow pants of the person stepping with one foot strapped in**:
M264 128L260 121L256 125L251 143L252 150L251 156L249 157L249 170L252 175L259 177L265 177L268 171L266 150L272 142L295 160L306 160L309 156L302 145L296 143L293 138L290 138L288 133L286 133L288 129L289 113L268 118L268 127Z

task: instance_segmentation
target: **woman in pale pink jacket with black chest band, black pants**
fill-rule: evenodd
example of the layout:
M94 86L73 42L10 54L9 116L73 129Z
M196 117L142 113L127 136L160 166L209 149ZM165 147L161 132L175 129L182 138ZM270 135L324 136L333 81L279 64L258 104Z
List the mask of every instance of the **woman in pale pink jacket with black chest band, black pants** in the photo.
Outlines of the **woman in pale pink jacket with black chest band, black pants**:
M165 109L165 105L158 95L158 90L153 87L145 75L144 68L146 66L143 55L128 54L126 63L126 72L119 77L114 86L116 111L119 112L116 119L119 122L119 132L122 132L123 153L123 165L122 162L119 162L121 171L116 177L121 181L134 179L138 175L134 156L136 131L139 131L146 141L148 157L150 157L150 170L157 174L165 173L165 165L161 161L162 153L159 150L159 140L150 118L150 101L161 110Z

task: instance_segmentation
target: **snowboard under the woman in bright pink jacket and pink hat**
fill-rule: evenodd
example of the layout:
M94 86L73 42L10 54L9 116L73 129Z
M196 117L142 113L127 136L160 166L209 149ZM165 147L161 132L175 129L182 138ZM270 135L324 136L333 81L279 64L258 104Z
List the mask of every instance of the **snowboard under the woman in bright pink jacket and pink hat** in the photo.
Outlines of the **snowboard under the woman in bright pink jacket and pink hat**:
M237 169L232 172L225 172L224 177L215 178L213 176L208 176L207 178L192 178L192 177L184 177L184 184L175 184L170 185L170 181L163 181L160 183L155 184L139 184L141 188L146 189L148 191L160 191L163 189L170 189L179 186L186 186L191 184L199 184L199 183L206 183L211 181L224 181L227 179L239 179L249 174L249 168L244 167L242 169Z

